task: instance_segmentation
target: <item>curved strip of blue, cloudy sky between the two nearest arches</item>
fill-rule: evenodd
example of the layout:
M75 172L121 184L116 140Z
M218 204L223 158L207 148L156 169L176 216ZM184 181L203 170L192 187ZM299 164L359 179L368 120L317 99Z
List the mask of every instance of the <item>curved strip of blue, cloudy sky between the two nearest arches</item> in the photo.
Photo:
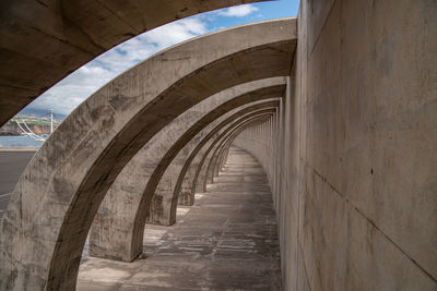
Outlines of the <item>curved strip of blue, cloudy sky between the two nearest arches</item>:
M250 22L296 16L298 0L231 7L182 19L131 38L106 51L52 86L26 109L68 114L99 87L150 56L222 28ZM25 109L25 111L27 111Z

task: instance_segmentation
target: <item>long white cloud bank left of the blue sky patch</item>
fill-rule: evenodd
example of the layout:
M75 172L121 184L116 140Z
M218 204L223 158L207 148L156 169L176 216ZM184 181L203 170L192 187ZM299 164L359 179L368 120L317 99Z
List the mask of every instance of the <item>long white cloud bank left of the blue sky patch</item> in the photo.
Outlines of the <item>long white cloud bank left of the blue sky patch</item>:
M28 107L68 114L83 100L132 65L172 45L208 32L200 17L189 17L137 36L83 65Z

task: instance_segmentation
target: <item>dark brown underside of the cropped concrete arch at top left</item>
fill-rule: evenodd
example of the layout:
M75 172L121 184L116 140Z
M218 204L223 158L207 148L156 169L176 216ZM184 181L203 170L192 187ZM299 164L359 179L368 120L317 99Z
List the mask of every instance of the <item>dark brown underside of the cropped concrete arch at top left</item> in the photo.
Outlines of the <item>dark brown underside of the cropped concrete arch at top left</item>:
M160 25L259 0L0 3L0 126L98 54Z

